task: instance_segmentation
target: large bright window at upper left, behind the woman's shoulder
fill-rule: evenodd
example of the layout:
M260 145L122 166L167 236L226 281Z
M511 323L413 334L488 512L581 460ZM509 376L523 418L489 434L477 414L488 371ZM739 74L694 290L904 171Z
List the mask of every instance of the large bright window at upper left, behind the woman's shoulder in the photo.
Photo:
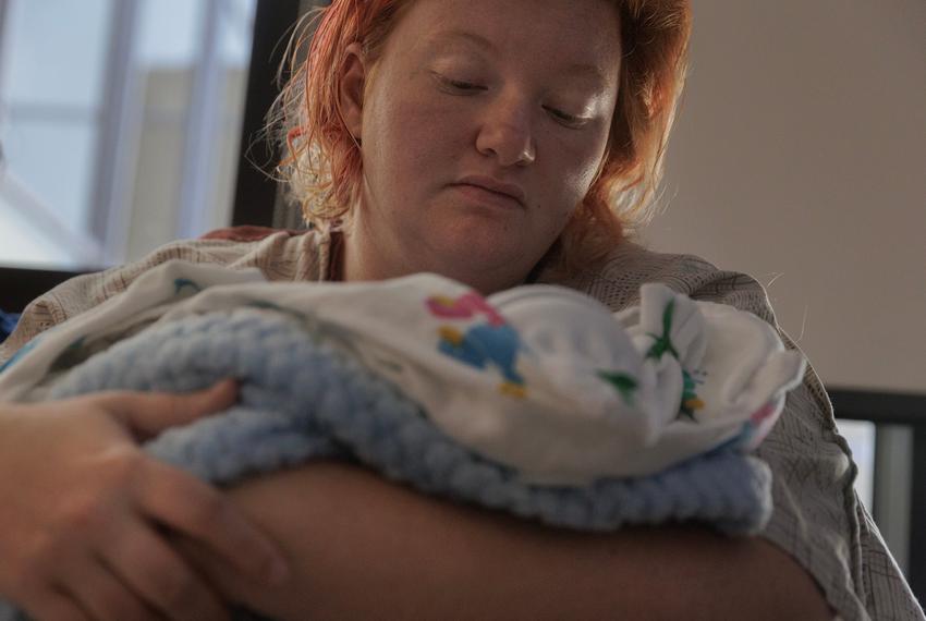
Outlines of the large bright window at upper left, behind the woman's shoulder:
M0 265L231 221L257 0L0 0Z

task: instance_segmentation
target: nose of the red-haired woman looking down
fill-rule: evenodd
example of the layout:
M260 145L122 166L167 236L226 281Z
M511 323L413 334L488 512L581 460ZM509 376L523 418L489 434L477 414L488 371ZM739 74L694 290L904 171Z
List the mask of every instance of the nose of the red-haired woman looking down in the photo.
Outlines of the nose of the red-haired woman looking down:
M537 148L527 104L510 97L500 98L490 106L476 136L476 149L496 157L501 167L532 165L537 158Z

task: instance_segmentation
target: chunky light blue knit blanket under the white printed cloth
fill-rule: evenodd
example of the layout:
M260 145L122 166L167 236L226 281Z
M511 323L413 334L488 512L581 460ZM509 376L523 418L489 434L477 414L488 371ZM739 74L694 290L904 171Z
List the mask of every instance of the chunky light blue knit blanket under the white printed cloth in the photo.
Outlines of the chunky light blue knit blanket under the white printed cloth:
M226 377L240 381L235 406L170 429L145 450L220 485L313 459L358 461L426 494L583 531L697 521L748 535L771 513L768 466L723 448L641 478L525 484L517 472L448 438L395 387L272 309L156 324L73 367L50 398L109 389L182 392ZM0 606L0 620L12 614Z

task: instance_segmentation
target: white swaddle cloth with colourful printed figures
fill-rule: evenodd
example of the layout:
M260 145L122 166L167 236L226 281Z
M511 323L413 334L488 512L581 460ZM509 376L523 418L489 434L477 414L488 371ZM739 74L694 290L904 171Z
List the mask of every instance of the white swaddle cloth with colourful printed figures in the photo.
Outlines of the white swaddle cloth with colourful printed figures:
M612 314L551 285L483 297L435 275L268 283L170 261L29 343L0 373L0 401L41 399L57 369L153 321L242 306L298 317L533 484L646 475L731 442L748 451L804 370L761 319L658 284Z

